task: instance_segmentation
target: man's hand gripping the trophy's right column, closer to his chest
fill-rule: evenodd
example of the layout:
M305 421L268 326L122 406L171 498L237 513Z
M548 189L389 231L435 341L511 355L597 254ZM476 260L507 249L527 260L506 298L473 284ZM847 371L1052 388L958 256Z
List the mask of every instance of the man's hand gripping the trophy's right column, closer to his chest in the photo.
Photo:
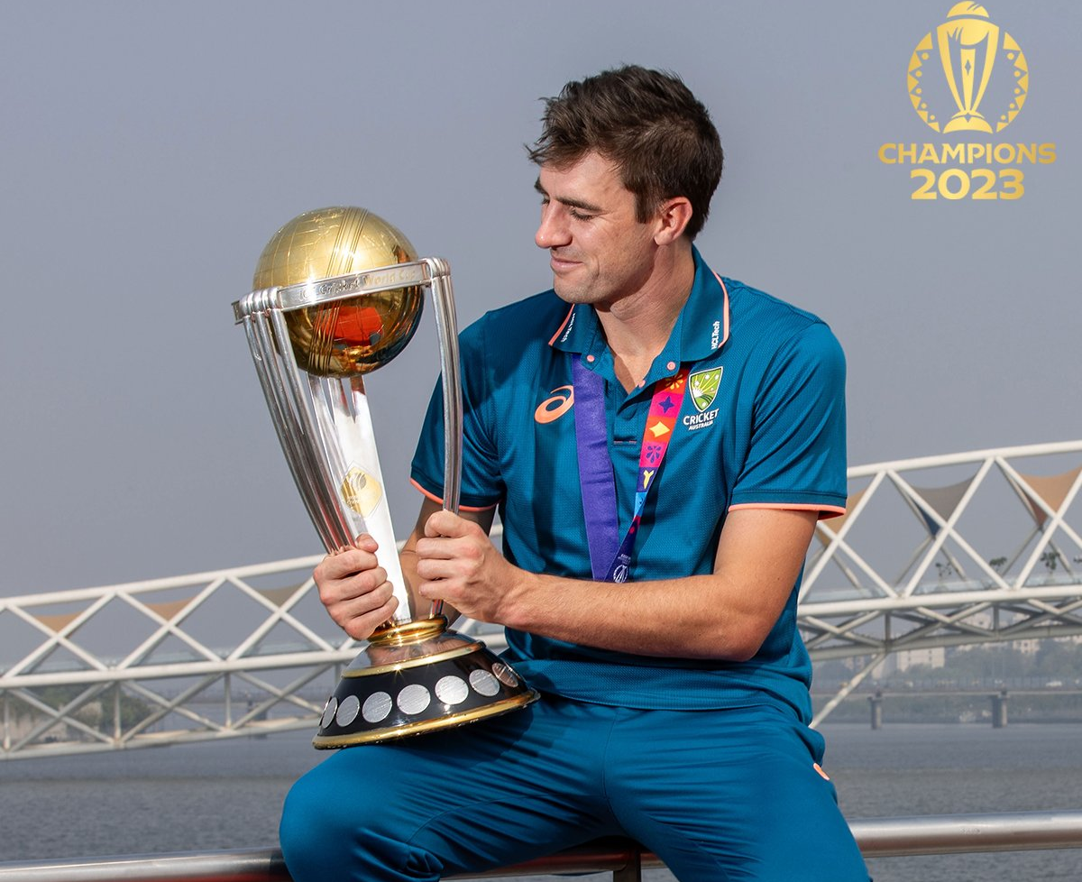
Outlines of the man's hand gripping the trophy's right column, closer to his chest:
M524 574L507 563L484 526L437 511L425 521L414 551L418 594L445 601L478 621L507 622L506 609Z

